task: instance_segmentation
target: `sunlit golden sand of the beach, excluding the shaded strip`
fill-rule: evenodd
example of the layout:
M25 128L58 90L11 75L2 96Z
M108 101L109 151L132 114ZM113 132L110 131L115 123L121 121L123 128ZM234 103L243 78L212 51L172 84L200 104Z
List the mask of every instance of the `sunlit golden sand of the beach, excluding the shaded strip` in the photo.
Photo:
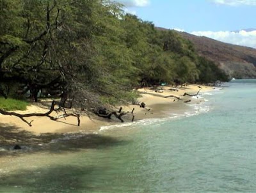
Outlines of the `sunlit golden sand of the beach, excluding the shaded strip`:
M139 103L145 103L145 108L140 108L139 105L129 104L122 106L123 111L131 112L134 108L134 120L140 120L143 118L157 118L164 117L166 114L165 111L182 111L181 103L184 101L189 101L189 103L200 103L200 99L195 99L190 96L183 96L185 92L189 94L196 94L198 90L200 92L205 92L212 90L212 87L207 87L203 85L186 85L184 87L171 87L171 86L161 86L157 89L143 88L138 89L141 97L138 98ZM180 97L181 100L178 100L175 97L166 97L166 96L175 96ZM118 110L119 107L116 107ZM45 113L48 109L44 106L38 106L31 104L28 106L26 111L16 111L17 113ZM52 116L58 115L56 111L53 111ZM60 112L59 112L60 115ZM130 121L132 116L125 115L125 121ZM20 120L18 117L9 116L9 115L0 115L0 124L4 127L15 127L20 130L32 132L33 134L44 134L44 133L63 133L63 132L97 132L100 129L100 126L106 126L111 124L120 124L119 120L108 120L106 118L97 117L92 115L88 117L87 115L81 116L81 125L77 126L76 117L67 117L61 118L60 120L53 121L48 117L28 117L26 118L29 122L33 120L32 127L29 127L28 124Z

